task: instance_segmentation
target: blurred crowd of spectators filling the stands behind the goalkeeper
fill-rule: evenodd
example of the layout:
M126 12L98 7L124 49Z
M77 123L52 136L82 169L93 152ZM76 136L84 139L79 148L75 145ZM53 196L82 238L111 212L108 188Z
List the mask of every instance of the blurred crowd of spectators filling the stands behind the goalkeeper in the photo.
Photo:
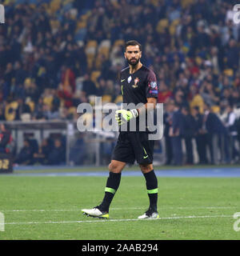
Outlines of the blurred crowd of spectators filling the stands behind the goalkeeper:
M192 138L199 163L216 163L217 145L222 162L238 161L240 26L233 22L233 3L4 1L0 120L76 120L78 104L93 103L94 95L121 102L123 46L135 39L142 43L142 62L157 74L166 163L192 164Z

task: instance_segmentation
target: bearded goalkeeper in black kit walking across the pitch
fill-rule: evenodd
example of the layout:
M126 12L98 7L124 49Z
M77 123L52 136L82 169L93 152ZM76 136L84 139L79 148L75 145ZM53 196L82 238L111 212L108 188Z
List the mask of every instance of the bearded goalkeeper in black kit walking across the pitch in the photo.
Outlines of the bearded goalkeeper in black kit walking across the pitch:
M120 134L109 165L110 173L106 182L105 196L99 206L83 209L82 212L90 217L109 218L110 203L118 190L122 170L127 163L133 164L136 160L146 179L146 192L150 201L148 210L138 218L159 218L158 179L153 167L154 141L149 140L147 130L138 131L139 126L137 126L139 116L156 106L158 98L156 76L140 62L142 46L137 41L126 42L124 55L129 66L120 74L123 103L135 105L143 103L143 106L139 109L116 111L115 117L120 126ZM128 125L133 118L137 118L137 131L122 131L122 124L127 122Z

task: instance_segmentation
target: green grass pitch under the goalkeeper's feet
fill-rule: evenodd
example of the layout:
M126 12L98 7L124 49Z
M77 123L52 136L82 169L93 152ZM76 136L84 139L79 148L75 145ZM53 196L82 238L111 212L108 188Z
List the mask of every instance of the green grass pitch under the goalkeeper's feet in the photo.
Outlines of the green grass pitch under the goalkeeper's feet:
M107 177L107 172L106 172ZM240 239L240 178L158 178L158 220L138 220L148 206L143 177L122 177L110 220L82 208L102 201L106 177L0 177L0 239Z

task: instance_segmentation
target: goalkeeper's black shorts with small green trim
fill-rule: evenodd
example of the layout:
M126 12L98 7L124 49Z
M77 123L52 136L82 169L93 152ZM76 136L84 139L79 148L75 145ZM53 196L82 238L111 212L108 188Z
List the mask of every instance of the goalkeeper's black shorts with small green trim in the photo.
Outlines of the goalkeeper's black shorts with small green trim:
M154 141L147 132L120 132L112 160L134 164L153 163Z

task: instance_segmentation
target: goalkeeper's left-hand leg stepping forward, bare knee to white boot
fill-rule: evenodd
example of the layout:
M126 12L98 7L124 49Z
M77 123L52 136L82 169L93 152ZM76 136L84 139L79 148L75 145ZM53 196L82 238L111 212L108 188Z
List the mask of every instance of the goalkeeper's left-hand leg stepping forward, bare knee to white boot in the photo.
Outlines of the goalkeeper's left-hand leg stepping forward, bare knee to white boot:
M122 169L126 166L126 162L112 160L109 165L109 177L106 181L105 194L102 203L93 209L82 209L83 214L96 218L109 218L110 203L114 198L114 194L118 190L121 181Z

